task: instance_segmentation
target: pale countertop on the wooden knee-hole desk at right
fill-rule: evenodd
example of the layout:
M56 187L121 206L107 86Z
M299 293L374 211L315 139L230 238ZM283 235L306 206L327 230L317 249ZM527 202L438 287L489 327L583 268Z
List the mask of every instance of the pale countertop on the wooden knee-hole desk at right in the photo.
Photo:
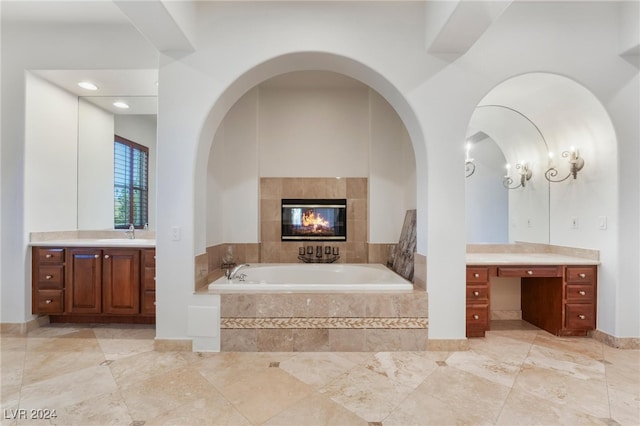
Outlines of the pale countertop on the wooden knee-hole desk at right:
M557 253L467 253L467 265L599 265L600 261Z

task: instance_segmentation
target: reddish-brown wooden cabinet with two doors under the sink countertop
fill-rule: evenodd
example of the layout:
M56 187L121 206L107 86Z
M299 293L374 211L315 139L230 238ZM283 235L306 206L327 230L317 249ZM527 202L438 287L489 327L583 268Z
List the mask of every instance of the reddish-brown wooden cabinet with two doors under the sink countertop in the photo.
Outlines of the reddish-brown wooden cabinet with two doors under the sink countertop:
M52 322L155 320L155 249L33 247L32 258L34 314Z

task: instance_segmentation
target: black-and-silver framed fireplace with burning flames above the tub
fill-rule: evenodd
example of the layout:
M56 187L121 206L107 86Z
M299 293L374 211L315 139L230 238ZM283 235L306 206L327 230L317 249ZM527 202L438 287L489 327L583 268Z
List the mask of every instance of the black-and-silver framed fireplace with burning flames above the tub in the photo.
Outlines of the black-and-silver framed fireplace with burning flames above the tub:
M282 199L282 241L346 240L346 199Z

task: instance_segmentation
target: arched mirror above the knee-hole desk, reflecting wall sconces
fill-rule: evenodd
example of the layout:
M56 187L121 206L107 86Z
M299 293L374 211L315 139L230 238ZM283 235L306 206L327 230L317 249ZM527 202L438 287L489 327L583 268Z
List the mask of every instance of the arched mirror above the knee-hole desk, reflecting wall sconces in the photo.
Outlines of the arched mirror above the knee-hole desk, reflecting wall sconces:
M466 179L467 241L548 244L547 143L529 117L496 98L481 101L467 130L468 156L475 168ZM531 178L522 186L525 167ZM505 187L507 177L513 180L508 185L512 189Z

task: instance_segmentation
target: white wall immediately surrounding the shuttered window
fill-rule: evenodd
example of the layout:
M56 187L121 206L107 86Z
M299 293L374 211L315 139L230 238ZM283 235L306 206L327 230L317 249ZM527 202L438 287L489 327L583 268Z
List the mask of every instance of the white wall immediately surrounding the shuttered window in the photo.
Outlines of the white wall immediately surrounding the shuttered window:
M118 136L129 139L137 144L149 148L149 229L155 229L156 225L156 145L157 145L157 116L155 115L130 115L118 114L114 118L114 130ZM111 157L113 158L113 136L111 136ZM110 182L110 225L113 228L113 161L111 167Z

